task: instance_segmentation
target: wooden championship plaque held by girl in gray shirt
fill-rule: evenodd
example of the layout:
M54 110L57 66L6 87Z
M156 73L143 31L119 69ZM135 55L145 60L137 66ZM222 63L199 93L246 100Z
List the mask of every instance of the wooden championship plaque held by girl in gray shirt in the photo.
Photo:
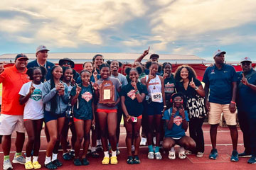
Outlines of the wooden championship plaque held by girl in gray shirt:
M114 102L114 86L112 81L105 80L100 86L100 104L115 103Z

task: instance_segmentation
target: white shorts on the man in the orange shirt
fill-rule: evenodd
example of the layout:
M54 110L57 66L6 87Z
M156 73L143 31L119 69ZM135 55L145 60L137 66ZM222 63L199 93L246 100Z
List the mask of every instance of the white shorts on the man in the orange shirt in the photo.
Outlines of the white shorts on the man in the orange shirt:
M12 132L26 132L23 115L0 115L0 135L11 135Z

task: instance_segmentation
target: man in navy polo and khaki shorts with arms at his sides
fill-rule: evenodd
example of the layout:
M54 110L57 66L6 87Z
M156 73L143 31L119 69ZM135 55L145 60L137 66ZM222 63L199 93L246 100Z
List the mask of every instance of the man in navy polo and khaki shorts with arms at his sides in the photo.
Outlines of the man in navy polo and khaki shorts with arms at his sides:
M218 50L214 53L215 64L206 69L203 75L206 92L206 109L208 110L208 122L210 124L210 141L213 149L210 159L217 159L216 149L217 128L220 123L221 113L230 129L233 143L233 152L230 158L232 162L238 162L238 130L236 128L235 95L237 89L237 75L233 66L224 64L224 51ZM210 90L210 95L208 97Z

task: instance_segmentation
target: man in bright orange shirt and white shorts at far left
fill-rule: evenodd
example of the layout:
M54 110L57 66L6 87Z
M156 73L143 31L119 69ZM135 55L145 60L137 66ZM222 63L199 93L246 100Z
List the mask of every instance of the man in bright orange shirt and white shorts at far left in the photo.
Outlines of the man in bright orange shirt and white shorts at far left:
M0 66L0 83L3 84L2 105L0 115L0 135L3 135L1 142L4 152L3 169L13 169L10 162L11 133L16 131L16 154L13 163L25 164L21 151L25 140L25 127L23 124L24 105L19 103L18 92L21 86L29 81L26 74L28 57L18 54L14 66L4 69Z

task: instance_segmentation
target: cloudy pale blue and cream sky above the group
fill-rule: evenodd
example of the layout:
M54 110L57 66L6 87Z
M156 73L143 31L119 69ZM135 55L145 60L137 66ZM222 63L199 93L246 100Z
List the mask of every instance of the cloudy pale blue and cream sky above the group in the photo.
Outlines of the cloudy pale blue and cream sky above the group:
M0 55L150 52L226 60L256 55L255 0L1 0Z

